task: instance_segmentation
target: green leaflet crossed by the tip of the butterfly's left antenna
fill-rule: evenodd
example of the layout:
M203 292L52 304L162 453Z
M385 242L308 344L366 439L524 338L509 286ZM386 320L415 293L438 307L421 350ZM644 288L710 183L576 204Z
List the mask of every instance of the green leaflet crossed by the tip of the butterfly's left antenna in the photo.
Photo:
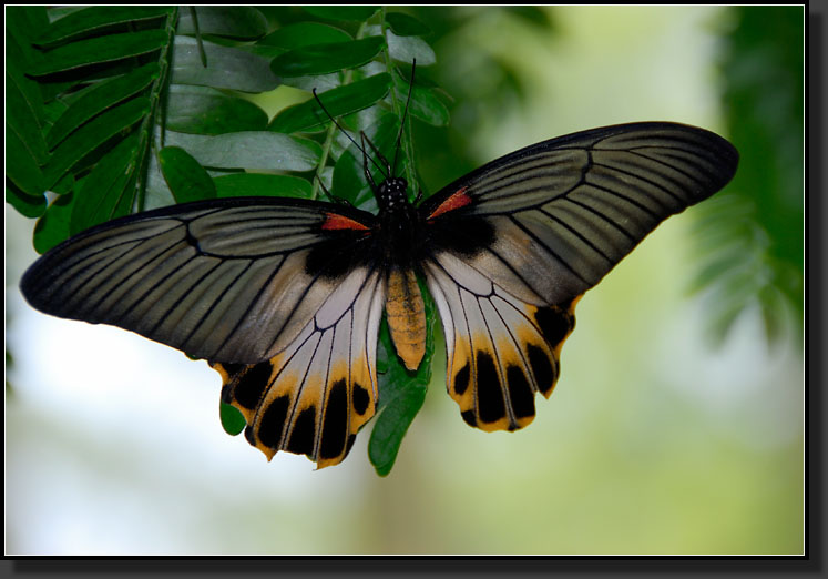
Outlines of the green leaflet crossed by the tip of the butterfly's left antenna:
M388 94L391 75L382 72L365 80L346 84L318 94L325 109L334 116L343 116L367 109ZM316 99L285 109L270 122L269 130L295 133L320 126L329 122L328 114Z

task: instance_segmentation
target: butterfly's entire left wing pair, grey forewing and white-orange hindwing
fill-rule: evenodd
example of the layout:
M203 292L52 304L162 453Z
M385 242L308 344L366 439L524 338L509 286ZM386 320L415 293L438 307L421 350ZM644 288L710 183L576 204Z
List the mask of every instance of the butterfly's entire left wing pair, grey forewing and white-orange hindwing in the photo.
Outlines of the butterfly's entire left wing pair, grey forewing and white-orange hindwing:
M377 404L384 277L355 265L371 220L298 200L177 205L69 240L21 288L42 312L209 360L253 446L324 467L345 458Z

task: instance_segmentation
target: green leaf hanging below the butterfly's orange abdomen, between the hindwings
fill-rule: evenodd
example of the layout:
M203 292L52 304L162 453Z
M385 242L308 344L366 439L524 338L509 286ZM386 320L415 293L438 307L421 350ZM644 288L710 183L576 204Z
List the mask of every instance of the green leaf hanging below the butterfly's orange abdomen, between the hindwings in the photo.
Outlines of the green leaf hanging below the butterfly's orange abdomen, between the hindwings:
M409 372L402 365L385 321L380 329L381 353L379 355L388 360L388 370L379 376L379 415L375 418L368 441L368 456L381 477L391 471L402 438L415 416L420 412L431 382L431 358L435 354L435 303L425 285L422 283L419 285L426 305L426 354L417 372Z

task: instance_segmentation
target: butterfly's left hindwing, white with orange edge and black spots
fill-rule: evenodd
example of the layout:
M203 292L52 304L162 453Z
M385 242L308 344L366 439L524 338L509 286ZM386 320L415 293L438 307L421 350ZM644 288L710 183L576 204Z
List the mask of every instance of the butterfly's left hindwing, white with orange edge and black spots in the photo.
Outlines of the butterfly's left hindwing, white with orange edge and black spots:
M380 274L358 268L285 351L257 365L214 365L224 402L242 412L247 440L268 459L286 450L323 468L347 456L377 404L384 302Z

